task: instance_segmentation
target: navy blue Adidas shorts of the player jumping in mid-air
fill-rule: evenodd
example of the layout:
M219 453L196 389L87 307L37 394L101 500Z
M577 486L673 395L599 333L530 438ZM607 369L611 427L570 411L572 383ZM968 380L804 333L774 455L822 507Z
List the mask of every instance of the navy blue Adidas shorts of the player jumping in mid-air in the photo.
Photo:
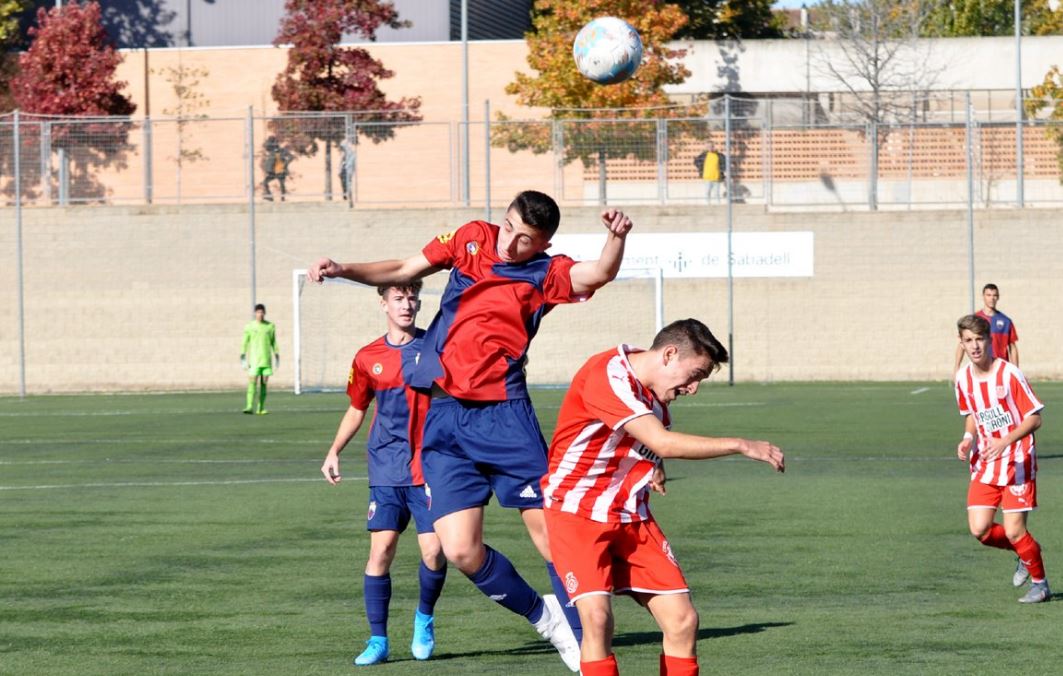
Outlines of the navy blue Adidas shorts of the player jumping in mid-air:
M433 519L482 507L492 491L503 507L542 509L546 441L526 399L432 400L421 466Z

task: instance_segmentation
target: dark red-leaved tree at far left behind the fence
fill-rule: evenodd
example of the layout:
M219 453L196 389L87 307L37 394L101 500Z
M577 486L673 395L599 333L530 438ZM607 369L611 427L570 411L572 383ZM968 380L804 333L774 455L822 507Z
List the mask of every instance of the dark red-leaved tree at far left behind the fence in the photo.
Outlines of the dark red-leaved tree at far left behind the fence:
M115 80L122 56L103 29L100 4L70 2L37 11L33 43L19 57L12 94L23 113L47 116L129 116L136 105ZM53 121L50 142L72 165L71 188L79 199L100 199L105 190L92 169L124 166L129 121ZM32 139L30 139L32 140ZM23 182L24 184L24 182Z

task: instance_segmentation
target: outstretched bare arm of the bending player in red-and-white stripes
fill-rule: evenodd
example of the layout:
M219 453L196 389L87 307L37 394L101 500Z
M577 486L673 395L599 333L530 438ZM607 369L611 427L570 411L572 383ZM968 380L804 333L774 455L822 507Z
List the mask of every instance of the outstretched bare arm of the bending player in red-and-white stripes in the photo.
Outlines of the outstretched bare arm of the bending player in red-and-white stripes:
M750 460L771 464L776 472L786 471L782 451L767 441L698 437L672 432L665 429L656 416L639 416L624 423L624 429L662 458L704 460L741 454Z

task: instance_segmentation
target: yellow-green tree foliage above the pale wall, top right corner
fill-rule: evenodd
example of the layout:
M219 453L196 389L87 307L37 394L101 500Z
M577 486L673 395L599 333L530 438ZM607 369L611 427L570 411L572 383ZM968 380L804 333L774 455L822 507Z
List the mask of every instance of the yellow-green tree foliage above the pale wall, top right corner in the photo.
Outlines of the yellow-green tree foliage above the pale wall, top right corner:
M1053 11L1048 0L1024 0L1023 33L1059 35L1063 33L1063 9ZM927 37L968 37L1013 35L1014 0L950 0L937 4L923 34Z

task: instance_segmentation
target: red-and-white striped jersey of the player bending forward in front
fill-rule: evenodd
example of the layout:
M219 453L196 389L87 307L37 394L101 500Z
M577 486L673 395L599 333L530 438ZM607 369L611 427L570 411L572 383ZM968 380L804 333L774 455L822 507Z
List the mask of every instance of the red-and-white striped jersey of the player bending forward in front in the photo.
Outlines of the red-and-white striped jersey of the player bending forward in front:
M602 523L649 518L649 479L660 458L624 432L640 416L672 424L668 407L642 385L627 359L641 352L619 345L579 369L561 403L542 477L546 509Z

